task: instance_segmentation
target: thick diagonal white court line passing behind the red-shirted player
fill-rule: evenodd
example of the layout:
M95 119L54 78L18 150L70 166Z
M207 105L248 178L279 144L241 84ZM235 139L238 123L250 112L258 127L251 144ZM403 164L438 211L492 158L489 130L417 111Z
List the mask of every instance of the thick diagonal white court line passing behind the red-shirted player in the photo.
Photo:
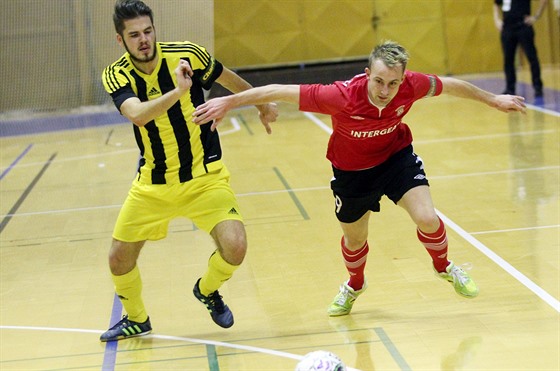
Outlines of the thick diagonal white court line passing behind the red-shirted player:
M533 107L531 107L531 108L533 108ZM322 120L320 120L314 114L309 113L309 112L303 112L303 114L306 117L308 117L311 121L313 121L313 123L317 124L321 129L326 131L327 133L329 133L329 134L332 133L332 129L329 126L327 126ZM557 168L557 167L555 167L555 168ZM436 210L436 211L437 211L438 215L441 217L441 219L444 221L444 223L447 224L451 229L453 229L455 232L457 232L467 242L469 242L471 245L476 247L480 252L482 252L484 255L486 255L492 261L494 261L494 263L496 263L498 266L500 266L502 269L504 269L507 273L509 273L512 277L514 277L519 282L521 282L521 284L523 284L525 287L527 287L529 290L531 290L533 293L535 293L538 297L540 297L542 300L544 300L553 309L555 309L557 312L560 312L560 302L556 298L554 298L552 295L547 293L540 286L538 286L533 281L531 281L529 278L527 278L527 276L525 276L524 274L519 272L511 264L509 264L504 259L502 259L498 254L496 254L495 252L490 250L488 247L486 247L484 244L482 244L480 241L478 241L472 235L467 233L464 229L462 229L457 224L455 224L451 219L447 218L445 215L443 215L438 210Z

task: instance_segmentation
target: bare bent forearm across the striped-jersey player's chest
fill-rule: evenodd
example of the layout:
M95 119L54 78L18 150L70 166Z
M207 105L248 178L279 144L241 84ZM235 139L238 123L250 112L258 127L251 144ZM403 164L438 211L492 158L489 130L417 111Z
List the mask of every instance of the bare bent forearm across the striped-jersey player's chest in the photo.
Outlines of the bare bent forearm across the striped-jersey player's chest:
M159 98L146 102L141 102L136 97L128 98L123 102L120 110L122 115L134 125L142 127L167 112L181 98L181 95L183 95L181 90L175 88Z

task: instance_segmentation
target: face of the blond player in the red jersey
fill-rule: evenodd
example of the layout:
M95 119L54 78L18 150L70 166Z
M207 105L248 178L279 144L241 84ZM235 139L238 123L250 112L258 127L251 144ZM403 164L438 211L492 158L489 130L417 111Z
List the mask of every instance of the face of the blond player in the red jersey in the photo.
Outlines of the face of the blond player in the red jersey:
M369 99L376 106L387 106L397 95L404 80L403 67L387 67L383 61L377 59L371 69L366 68L365 72L368 77Z

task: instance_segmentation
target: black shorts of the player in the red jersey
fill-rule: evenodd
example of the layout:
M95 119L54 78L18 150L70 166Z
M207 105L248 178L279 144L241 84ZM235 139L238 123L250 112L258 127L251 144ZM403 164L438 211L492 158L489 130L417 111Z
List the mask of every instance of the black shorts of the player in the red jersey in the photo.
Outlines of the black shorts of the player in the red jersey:
M344 171L333 167L333 173L335 213L343 223L355 222L369 210L379 211L383 195L396 204L410 189L429 185L422 159L412 145L370 169Z

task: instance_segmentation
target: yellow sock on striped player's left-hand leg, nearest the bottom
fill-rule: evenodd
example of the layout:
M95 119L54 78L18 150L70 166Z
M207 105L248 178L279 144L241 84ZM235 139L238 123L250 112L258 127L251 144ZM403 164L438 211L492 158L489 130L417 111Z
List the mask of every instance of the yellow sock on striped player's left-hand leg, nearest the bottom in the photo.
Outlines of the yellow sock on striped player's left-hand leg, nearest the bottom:
M134 322L145 322L148 314L142 300L142 279L138 266L122 276L112 276L115 292L121 299L128 318Z

